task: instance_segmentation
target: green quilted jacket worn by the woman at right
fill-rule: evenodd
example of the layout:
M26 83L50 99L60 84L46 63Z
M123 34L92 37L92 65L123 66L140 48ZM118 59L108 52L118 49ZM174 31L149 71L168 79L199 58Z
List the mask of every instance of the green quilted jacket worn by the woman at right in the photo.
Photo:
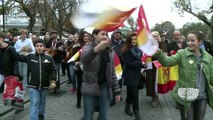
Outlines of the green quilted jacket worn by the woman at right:
M213 109L213 57L206 51L201 50L203 72L207 79L207 96L208 104ZM175 55L166 56L161 50L154 55L158 61L165 67L178 65L179 80L172 91L172 98L180 103L185 104L177 94L178 88L195 88L197 63L194 54L188 48L179 50ZM189 106L191 103L186 103Z

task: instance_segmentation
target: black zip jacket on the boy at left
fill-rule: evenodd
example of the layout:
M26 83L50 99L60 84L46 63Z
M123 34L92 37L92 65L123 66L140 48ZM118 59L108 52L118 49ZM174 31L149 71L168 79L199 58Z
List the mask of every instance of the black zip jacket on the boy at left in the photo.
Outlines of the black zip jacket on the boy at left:
M35 89L48 89L50 81L58 80L56 65L51 56L46 54L18 55L18 61L27 62L28 87Z

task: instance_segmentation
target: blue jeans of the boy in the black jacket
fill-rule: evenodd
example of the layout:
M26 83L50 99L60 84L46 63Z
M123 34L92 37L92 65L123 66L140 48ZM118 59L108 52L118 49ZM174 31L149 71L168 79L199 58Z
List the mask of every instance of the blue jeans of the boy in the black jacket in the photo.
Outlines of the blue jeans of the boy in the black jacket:
M38 115L45 114L46 96L48 90L29 88L30 93L30 120L38 120Z

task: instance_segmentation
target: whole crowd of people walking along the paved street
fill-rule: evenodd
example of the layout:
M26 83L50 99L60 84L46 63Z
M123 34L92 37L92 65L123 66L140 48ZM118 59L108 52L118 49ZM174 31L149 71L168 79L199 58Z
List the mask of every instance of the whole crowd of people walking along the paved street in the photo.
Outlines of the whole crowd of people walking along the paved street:
M10 32L0 34L0 86L3 92L7 76L22 80L24 91L30 94L30 120L44 119L46 95L48 92L60 94L60 76L64 75L70 84L68 92L76 94L76 108L83 106L81 120L93 119L95 111L99 112L99 120L107 120L109 107L124 99L121 96L123 85L127 95L124 112L141 120L140 89L146 89L153 108L160 102L157 67L152 63L156 60L165 67L179 66L176 73L179 79L172 97L182 120L204 120L207 103L213 108L213 47L202 31L191 32L183 39L181 32L175 30L174 40L152 31L151 35L159 44L158 51L151 56L152 69L146 69L148 63L142 61L145 53L137 47L135 31L129 32L127 38L123 38L119 30L109 36L101 29L62 38L52 30L42 39L36 34L29 35L26 30L20 33L19 37ZM77 52L80 56L68 62ZM114 54L118 55L123 69L119 79L115 74ZM187 104L181 100L177 91L183 87L198 88L197 99Z

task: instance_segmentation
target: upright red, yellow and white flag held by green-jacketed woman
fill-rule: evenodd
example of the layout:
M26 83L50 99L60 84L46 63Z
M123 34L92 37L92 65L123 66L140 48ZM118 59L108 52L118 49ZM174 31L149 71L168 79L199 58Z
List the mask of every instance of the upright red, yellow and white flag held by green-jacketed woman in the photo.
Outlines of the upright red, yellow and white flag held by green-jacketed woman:
M148 56L152 56L157 51L158 43L150 35L148 21L142 5L138 12L137 39L138 47Z

